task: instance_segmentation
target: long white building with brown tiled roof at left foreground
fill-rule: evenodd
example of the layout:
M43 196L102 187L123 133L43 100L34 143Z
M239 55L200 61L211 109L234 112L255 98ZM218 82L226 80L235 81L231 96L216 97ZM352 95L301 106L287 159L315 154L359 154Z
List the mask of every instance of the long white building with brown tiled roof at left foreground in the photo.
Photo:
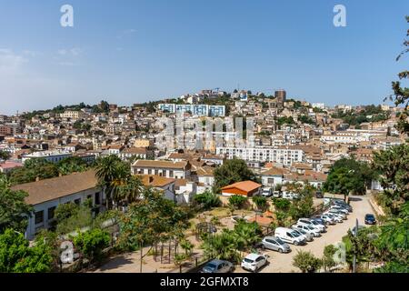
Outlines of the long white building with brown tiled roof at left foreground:
M102 207L105 199L93 170L17 185L12 189L28 193L25 202L34 207L33 216L28 218L28 239L33 239L41 229L52 226L56 206L70 202L79 205L92 199L94 206Z

